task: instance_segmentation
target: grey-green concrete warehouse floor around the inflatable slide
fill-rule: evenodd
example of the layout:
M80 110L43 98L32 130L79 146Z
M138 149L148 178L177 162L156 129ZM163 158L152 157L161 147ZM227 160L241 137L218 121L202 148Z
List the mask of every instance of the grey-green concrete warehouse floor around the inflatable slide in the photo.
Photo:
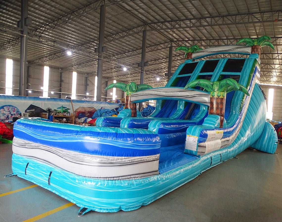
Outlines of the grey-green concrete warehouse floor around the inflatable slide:
M0 194L33 185L11 173L11 144L0 145ZM60 210L39 221L282 221L282 145L276 154L246 149L138 210ZM0 197L0 221L23 221L69 201L41 187Z

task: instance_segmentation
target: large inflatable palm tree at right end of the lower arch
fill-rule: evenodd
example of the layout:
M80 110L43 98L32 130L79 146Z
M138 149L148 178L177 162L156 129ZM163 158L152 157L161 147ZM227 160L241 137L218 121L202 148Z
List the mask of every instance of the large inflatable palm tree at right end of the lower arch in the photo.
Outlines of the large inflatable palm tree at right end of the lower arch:
M229 93L233 90L239 90L248 96L250 95L248 90L241 84L237 83L234 79L223 79L221 81L215 82L211 82L210 80L206 79L196 79L188 83L184 89L192 88L194 86L200 86L210 92L211 96L209 114L220 116L219 128L223 127L226 93Z

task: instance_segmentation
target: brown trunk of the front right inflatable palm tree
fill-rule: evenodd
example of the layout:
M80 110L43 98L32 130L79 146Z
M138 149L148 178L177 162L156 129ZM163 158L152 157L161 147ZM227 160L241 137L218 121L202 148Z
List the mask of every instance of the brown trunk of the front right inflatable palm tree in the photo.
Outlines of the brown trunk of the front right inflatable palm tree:
M217 92L217 91L211 92L209 114L220 116L219 128L223 127L225 100L226 100L226 93Z

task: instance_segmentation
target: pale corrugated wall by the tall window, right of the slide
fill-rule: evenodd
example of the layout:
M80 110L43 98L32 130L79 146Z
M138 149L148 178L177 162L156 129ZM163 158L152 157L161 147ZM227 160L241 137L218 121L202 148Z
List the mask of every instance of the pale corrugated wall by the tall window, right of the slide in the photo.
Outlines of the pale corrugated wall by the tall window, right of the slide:
M270 88L274 89L272 119L275 121L281 121L282 120L282 87L281 86L261 85L261 89L264 91L266 98L268 98L268 90ZM268 103L268 100L266 99L266 107L267 107L267 103Z

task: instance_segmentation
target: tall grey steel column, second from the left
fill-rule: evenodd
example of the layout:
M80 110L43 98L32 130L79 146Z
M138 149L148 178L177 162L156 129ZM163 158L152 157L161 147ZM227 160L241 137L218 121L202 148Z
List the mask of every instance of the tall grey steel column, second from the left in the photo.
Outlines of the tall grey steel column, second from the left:
M105 37L105 5L100 8L99 46L98 46L98 70L97 70L97 101L102 99L102 72L103 72L103 44Z

